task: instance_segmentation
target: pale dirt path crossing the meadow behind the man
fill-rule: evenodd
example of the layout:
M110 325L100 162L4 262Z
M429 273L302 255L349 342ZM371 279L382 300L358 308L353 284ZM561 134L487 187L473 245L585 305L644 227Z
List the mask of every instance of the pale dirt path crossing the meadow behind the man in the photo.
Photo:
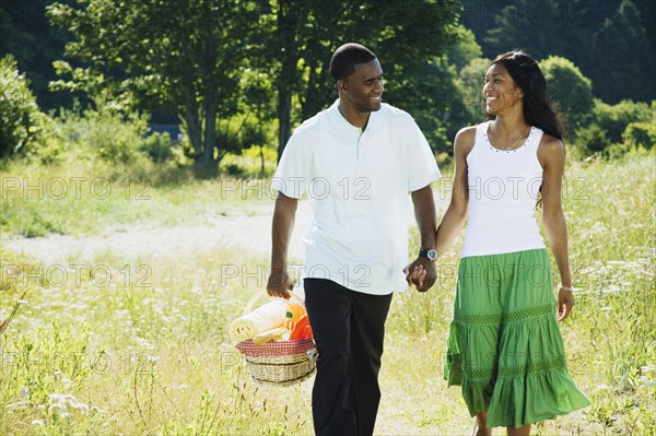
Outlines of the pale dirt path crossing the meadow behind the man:
M272 208L258 208L255 213L235 213L206 220L203 224L179 224L151 227L128 225L107 236L50 235L46 237L2 237L0 244L45 263L62 260L91 260L103 255L126 259L138 257L168 258L207 252L219 248L244 248L254 255L271 252ZM309 220L307 201L298 203L296 227L290 243L290 259L302 259L303 232Z

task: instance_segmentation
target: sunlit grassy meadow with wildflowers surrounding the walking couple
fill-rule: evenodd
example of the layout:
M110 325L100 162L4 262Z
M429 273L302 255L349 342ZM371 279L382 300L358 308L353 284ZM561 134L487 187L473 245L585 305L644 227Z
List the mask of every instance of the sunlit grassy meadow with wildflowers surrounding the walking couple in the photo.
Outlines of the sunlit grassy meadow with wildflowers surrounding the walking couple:
M86 178L81 198L71 193L71 177ZM67 184L66 196L56 178ZM98 178L105 181L93 185ZM0 236L102 234L136 221L172 226L272 202L266 182L244 190L227 179L130 180L7 167ZM445 186L435 187L442 209ZM654 156L573 162L563 197L578 291L561 329L570 370L593 405L534 434L656 434ZM459 390L442 379L458 251L456 244L445 256L427 294L395 296L376 434L471 428ZM267 256L238 248L137 259L103 252L62 266L3 248L0 255L0 319L25 299L0 334L0 434L312 434L312 380L292 388L251 384L227 334L263 288ZM229 276L226 267L238 273Z

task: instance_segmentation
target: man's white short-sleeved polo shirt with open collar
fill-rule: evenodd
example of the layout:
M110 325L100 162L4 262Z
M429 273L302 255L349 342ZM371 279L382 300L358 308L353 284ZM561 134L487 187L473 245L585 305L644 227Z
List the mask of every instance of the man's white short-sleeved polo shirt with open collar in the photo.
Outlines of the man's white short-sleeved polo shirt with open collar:
M339 99L290 138L272 186L308 193L304 278L385 295L407 288L410 196L440 178L423 133L403 110L383 104L361 130Z

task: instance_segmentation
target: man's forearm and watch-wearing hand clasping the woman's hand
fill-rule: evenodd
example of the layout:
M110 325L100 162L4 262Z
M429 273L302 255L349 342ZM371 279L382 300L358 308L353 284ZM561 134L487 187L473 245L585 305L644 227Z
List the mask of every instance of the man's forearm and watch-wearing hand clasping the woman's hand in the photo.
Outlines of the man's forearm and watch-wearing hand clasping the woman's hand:
M433 190L431 185L424 186L412 192L412 203L414 204L414 217L419 226L421 238L421 248L435 248L435 200L433 199ZM423 267L426 272L423 280L409 280L417 286L417 291L426 292L437 279L435 262L418 256L417 259L407 267L409 272L412 272L415 267Z

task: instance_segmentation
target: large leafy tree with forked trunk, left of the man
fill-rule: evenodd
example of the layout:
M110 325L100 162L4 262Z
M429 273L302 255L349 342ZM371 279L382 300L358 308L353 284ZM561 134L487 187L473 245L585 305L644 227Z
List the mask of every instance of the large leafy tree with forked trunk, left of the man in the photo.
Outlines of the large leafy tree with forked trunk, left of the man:
M194 148L196 167L216 174L225 154L218 148L218 120L237 110L238 72L245 64L247 37L260 16L257 3L84 2L84 9L62 3L48 8L54 23L75 36L67 54L102 74L103 86L118 83L141 107L173 109Z

